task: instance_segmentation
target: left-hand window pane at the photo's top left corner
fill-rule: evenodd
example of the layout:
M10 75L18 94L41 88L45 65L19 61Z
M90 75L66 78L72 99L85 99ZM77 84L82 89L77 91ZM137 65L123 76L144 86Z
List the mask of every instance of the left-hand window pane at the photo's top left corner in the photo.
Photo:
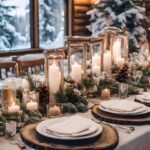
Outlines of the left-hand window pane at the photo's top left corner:
M0 51L30 48L29 0L0 0Z

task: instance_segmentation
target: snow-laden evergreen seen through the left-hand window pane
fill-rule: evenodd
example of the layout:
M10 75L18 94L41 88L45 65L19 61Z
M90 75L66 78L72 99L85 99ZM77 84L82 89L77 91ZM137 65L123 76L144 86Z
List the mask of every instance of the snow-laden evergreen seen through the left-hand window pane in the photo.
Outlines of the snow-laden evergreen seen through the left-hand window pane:
M14 11L17 11L15 4L0 0L0 50L15 49L27 43L25 33L19 30L23 20L18 25L20 18L12 13Z

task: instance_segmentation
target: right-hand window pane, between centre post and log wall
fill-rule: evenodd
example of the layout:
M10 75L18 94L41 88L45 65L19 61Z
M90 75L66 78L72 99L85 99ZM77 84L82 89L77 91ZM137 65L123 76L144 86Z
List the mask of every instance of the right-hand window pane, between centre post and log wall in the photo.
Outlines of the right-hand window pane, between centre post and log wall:
M39 0L40 47L64 46L64 0Z

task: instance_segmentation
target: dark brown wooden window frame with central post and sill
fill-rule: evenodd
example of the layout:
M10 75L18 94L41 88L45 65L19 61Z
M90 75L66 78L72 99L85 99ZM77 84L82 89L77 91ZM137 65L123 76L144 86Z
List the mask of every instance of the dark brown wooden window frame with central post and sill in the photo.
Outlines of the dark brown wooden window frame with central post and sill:
M39 47L39 0L30 0L30 42L31 48L26 49L14 49L7 52L1 50L0 57L24 55L31 53L42 53L43 48ZM68 4L69 0L64 0L64 12L65 12L65 35L68 35Z

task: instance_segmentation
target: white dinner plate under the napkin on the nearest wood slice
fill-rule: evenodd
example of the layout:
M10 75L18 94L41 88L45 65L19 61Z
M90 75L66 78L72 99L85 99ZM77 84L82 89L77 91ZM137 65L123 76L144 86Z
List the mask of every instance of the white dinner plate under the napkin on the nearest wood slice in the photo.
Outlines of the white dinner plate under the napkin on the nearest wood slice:
M57 134L53 134L53 133L49 133L47 130L47 126L51 126L55 123L61 123L62 121L68 119L68 117L61 117L61 118L53 118L53 119L47 119L45 121L40 122L37 126L36 126L36 131L40 134L43 135L47 138L52 138L52 139L57 139L57 140L83 140L83 139L90 139L90 138L94 138L98 135L101 134L102 132L102 126L96 124L93 121L93 125L91 126L91 129L82 132L80 134L75 134L74 136L61 136ZM79 123L79 122L77 122ZM96 130L95 130L96 128Z

